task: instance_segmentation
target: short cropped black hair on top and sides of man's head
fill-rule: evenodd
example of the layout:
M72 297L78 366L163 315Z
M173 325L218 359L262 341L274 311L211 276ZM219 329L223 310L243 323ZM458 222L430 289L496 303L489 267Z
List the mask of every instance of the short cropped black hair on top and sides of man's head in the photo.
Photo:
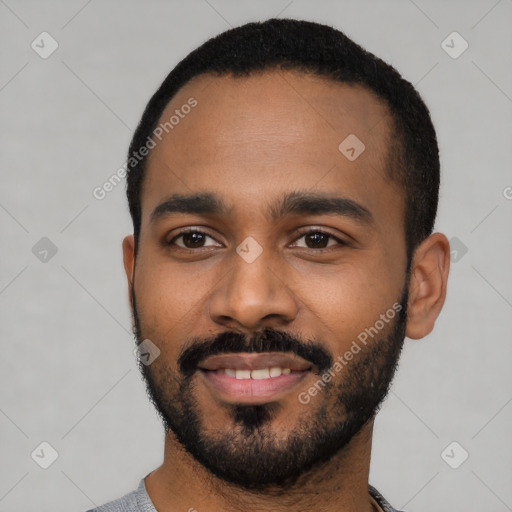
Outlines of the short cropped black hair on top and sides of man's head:
M270 70L296 70L372 91L391 114L388 177L405 196L408 268L417 245L433 230L439 197L439 149L427 106L411 83L343 32L310 21L269 19L247 23L213 37L189 53L165 78L144 110L130 144L127 196L137 250L146 145L178 90L201 74L247 77ZM341 141L340 141L341 142Z

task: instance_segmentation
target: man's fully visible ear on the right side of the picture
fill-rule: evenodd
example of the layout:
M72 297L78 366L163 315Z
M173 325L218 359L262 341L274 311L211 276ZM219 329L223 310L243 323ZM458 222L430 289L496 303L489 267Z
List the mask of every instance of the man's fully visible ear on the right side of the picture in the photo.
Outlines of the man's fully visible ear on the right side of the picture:
M441 312L450 269L450 244L441 233L434 233L415 250L411 265L407 303L408 338L429 334Z

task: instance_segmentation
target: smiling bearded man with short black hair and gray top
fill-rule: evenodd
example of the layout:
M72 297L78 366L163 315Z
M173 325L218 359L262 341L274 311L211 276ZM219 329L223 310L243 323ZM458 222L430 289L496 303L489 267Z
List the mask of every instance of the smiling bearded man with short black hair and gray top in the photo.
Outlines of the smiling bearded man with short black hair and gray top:
M368 484L373 422L449 269L412 85L330 27L247 24L169 74L128 166L124 265L165 456L96 510L394 510Z

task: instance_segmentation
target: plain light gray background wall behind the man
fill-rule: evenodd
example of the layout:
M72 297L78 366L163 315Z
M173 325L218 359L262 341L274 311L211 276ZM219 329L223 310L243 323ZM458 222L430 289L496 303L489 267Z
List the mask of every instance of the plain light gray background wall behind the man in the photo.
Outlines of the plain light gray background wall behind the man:
M92 191L179 59L277 15L332 24L417 85L441 148L437 230L467 248L435 331L406 341L371 482L408 512L512 510L511 0L0 0L0 511L86 510L160 465L132 353L124 183ZM46 59L31 48L49 48L43 31L59 45ZM441 45L453 31L469 44L456 59ZM55 255L33 251L42 237ZM31 458L42 441L48 469ZM469 453L458 469L441 456L453 441L452 465Z

